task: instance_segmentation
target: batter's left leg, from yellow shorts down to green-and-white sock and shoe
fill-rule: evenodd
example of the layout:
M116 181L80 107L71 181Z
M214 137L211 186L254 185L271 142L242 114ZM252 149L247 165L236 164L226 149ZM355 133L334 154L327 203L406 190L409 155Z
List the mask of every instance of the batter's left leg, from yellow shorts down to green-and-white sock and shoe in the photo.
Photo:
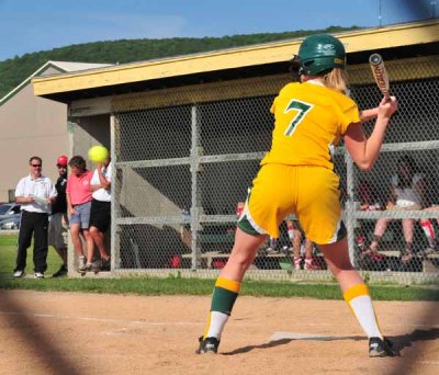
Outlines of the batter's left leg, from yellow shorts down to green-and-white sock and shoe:
M284 166L281 167L281 169ZM238 297L245 272L254 262L268 236L279 237L279 225L286 215L291 194L282 190L279 168L264 166L254 181L243 215L238 221L230 257L216 280L207 327L200 338L198 353L216 353L222 332ZM288 169L288 168L286 168ZM290 186L284 183L283 185Z

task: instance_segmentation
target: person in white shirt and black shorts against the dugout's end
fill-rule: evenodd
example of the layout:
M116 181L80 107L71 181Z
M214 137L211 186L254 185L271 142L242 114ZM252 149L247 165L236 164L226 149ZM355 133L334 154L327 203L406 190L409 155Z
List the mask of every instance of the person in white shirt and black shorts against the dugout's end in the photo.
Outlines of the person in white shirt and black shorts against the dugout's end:
M90 236L93 245L88 248L86 271L92 268L100 271L110 271L110 255L105 251L104 234L111 223L111 159L97 162L90 185L92 193L90 211ZM101 255L100 260L91 264L93 260L94 245Z

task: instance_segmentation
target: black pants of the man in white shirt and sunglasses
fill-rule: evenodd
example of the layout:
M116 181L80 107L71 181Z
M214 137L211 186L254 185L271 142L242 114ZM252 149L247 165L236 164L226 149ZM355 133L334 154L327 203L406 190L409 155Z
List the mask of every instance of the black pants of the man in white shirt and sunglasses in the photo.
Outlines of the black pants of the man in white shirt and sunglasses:
M48 249L47 227L47 214L22 212L15 271L24 271L26 268L27 248L31 246L32 235L34 235L34 271L46 271Z

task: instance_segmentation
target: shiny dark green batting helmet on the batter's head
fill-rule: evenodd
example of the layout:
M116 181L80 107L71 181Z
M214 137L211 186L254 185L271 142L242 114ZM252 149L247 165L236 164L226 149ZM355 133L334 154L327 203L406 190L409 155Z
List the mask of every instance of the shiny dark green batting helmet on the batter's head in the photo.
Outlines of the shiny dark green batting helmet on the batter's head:
M299 73L324 76L334 68L346 68L346 52L339 39L329 34L306 37L299 48Z

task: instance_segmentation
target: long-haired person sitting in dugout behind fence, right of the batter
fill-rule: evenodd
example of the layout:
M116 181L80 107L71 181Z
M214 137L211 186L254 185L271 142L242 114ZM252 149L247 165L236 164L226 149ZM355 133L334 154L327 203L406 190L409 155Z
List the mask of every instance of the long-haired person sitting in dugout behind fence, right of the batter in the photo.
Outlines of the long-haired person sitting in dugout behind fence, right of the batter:
M409 156L403 156L397 162L396 174L392 177L391 193L386 209L421 209L425 202L424 175L418 172L415 160ZM390 218L378 219L373 240L367 252L376 254L382 236L385 232ZM403 230L405 249L402 254L402 262L408 263L413 257L413 236L415 219L404 218Z

